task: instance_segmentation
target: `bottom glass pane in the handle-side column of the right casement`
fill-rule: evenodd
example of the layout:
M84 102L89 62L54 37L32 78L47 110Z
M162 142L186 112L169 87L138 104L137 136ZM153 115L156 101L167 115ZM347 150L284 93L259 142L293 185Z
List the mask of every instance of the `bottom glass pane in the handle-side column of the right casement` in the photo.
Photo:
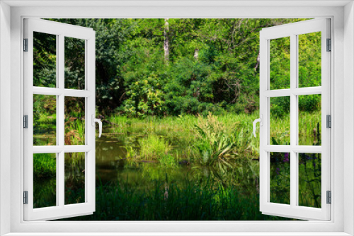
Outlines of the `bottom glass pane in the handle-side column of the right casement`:
M270 202L290 204L290 153L270 153Z

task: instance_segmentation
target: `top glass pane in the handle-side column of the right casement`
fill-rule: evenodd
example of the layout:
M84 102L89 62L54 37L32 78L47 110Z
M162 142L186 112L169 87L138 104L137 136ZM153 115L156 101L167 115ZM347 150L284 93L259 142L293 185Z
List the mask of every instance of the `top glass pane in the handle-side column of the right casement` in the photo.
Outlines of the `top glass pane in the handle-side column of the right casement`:
M290 37L270 40L270 89L290 88Z

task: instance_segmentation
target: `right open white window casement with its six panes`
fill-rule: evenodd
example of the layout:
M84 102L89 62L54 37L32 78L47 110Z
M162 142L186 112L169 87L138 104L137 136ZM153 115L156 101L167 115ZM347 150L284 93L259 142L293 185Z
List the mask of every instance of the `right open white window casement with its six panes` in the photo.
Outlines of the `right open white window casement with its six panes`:
M316 33L320 35L321 42L319 42L317 52L319 60L321 60L321 78L319 78L319 84L306 85L306 78L300 78L300 57L304 53L304 48L299 47L300 38L307 39L308 35ZM330 220L331 219L331 205L328 194L331 192L331 129L326 124L326 117L331 115L331 52L329 48L330 35L330 20L326 18L316 20L305 20L299 23L291 23L287 25L279 25L271 28L265 28L260 33L260 49L261 49L261 73L260 73L260 115L261 115L261 129L260 129L260 210L264 214L273 216L285 216L290 218L310 219L310 220ZM283 81L279 84L277 81L281 77L277 75L277 71L271 66L272 47L277 47L273 40L281 40L280 42L286 43L290 41L290 62L289 76L282 77ZM273 41L273 42L272 42ZM274 57L281 57L282 55L275 54ZM314 55L312 55L314 57ZM286 58L278 58L279 60L286 60ZM308 61L301 61L301 66L307 66L312 68L313 63ZM275 61L275 63L280 63ZM278 82L278 84L277 84ZM273 83L273 84L272 84ZM312 95L321 96L321 118L319 119L319 125L321 129L316 130L316 127L312 127L314 132L318 132L321 143L310 146L309 143L299 140L299 122L306 123L306 120L300 119L299 114L299 97L309 97ZM272 114L271 107L275 100L282 100L283 102L290 102L290 122L285 122L285 130L290 131L290 143L278 143L273 141L272 136L272 122L271 119L275 118L275 114ZM285 117L281 117L284 119ZM319 134L321 130L321 134ZM283 141L284 142L284 141ZM273 154L274 153L274 154ZM290 163L290 170L275 170L273 167L273 159L284 155L284 159L280 162ZM321 176L312 177L312 179L304 179L302 175L306 175L304 171L301 171L304 165L309 163L301 163L302 157L311 159L314 158L314 169ZM317 165L316 165L317 164ZM286 167L285 167L286 168ZM317 169L319 168L319 169ZM286 189L282 189L282 193L287 191L290 201L280 203L272 196L277 191L276 183L272 179L273 175L280 175L283 172L282 183L288 184ZM276 173L275 173L276 172ZM287 179L287 182L286 182ZM301 183L306 182L306 183ZM317 206L304 206L300 204L300 184L313 184L319 185L318 192L314 195L318 196L320 201ZM275 187L274 187L275 186Z

